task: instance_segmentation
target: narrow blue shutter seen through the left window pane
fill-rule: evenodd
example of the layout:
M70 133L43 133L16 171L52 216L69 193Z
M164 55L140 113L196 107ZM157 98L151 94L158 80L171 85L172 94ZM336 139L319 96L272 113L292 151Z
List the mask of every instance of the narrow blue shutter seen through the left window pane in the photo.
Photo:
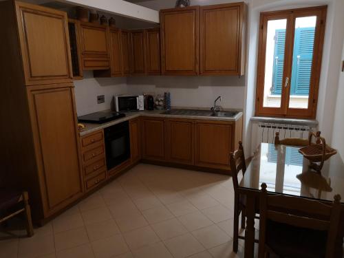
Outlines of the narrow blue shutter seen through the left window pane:
M272 73L271 94L281 95L283 81L284 50L286 45L286 30L275 31L274 67Z

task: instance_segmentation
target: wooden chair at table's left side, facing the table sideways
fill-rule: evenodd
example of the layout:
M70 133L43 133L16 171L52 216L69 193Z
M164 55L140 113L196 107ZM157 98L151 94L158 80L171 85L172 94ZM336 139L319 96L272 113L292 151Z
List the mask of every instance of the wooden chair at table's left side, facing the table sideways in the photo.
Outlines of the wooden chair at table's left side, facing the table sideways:
M244 239L244 237L239 236L239 216L241 213L241 228L245 228L245 209L246 200L245 197L240 195L237 191L239 186L238 174L241 171L242 175L246 172L246 161L244 155L244 147L242 147L242 142L239 142L239 149L230 153L230 170L233 179L234 188L234 226L233 226L233 251L237 252L238 240Z

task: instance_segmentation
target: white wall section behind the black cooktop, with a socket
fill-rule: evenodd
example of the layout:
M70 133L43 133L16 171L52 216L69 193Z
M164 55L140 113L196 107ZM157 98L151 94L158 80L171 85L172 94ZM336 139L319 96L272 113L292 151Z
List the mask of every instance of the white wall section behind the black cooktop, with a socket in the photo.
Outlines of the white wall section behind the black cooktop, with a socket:
M111 108L115 94L127 93L126 78L93 78L93 72L84 72L83 80L74 80L76 112L78 116ZM105 95L105 103L97 104L97 96Z

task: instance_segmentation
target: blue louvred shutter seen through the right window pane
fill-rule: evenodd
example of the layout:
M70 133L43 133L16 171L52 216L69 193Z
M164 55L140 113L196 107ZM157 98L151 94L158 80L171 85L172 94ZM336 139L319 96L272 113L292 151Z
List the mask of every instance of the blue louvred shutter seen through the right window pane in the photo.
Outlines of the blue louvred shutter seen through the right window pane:
M314 27L295 30L291 95L308 96L310 93L314 34Z

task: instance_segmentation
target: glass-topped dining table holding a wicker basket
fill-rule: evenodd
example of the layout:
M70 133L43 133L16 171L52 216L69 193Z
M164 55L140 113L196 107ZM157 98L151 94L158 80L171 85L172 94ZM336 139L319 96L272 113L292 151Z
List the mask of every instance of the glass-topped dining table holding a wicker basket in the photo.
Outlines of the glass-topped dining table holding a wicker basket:
M310 161L299 153L300 147L261 143L255 151L239 193L246 195L245 257L254 257L255 208L259 205L261 183L270 193L305 197L321 202L333 202L334 195L342 197L341 228L338 241L344 237L344 162L338 153L325 161L321 173L310 169ZM340 246L338 244L338 246ZM338 250L343 252L343 249Z

